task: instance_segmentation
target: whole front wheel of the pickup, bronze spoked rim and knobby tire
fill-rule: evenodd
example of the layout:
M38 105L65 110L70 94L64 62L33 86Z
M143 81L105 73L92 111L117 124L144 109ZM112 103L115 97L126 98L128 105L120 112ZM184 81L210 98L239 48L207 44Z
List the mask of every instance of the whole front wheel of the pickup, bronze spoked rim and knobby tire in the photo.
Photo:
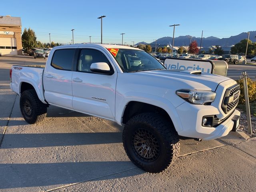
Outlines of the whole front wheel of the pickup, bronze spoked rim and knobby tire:
M178 133L165 118L154 113L138 114L124 127L123 145L130 160L142 170L159 173L178 157Z

